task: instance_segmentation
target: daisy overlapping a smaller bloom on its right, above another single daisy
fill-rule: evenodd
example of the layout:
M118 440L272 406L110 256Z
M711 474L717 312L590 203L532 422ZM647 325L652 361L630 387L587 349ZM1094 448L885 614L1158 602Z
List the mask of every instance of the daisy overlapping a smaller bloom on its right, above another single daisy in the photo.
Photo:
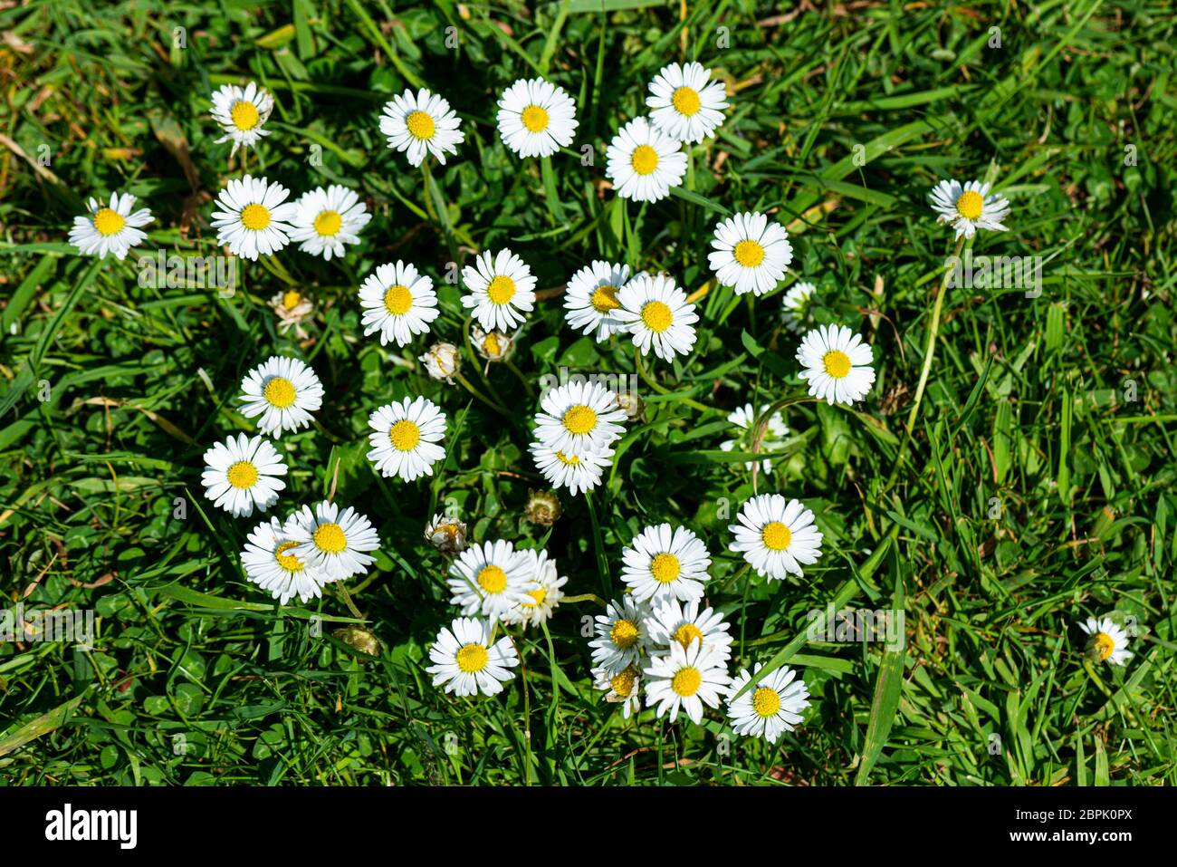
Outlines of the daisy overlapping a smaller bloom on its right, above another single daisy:
M450 575L450 604L491 621L501 620L539 588L527 552L503 540L471 545L451 564Z

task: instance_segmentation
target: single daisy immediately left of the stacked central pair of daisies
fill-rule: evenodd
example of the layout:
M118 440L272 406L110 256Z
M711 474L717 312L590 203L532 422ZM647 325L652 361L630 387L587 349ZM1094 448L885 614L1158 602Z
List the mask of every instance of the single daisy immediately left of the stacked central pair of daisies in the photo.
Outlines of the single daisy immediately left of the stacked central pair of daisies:
M412 482L432 476L433 464L445 459L438 443L445 435L445 412L425 397L378 408L368 417L372 451L367 457L381 476L400 476Z

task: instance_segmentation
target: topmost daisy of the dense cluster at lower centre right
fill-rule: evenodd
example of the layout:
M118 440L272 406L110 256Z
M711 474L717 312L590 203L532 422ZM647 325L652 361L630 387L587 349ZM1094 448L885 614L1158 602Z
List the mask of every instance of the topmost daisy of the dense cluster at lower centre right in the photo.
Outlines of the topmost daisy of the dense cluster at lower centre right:
M685 527L647 527L621 551L621 581L641 602L700 600L703 583L711 580L707 547Z

